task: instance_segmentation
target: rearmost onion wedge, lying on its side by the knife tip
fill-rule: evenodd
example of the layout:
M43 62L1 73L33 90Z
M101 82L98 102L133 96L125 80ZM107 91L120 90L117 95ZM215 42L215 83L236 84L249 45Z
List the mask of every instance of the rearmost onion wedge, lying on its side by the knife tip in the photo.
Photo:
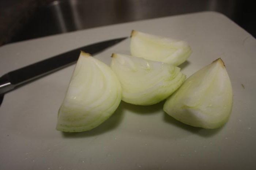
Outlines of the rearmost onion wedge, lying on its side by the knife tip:
M187 42L146 34L133 30L130 50L132 56L178 66L185 62L192 50Z

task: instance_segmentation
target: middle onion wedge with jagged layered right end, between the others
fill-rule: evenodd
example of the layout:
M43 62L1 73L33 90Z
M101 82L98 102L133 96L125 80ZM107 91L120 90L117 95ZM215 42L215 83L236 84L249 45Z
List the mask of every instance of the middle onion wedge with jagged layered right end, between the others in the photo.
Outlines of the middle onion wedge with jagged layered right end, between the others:
M110 67L120 80L122 100L135 105L164 100L186 78L179 67L123 54L113 54Z

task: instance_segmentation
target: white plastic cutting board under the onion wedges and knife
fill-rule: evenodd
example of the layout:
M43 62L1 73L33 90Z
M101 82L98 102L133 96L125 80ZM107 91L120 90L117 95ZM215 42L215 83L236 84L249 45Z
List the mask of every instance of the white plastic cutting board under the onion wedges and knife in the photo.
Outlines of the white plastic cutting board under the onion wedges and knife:
M1 170L255 169L256 40L215 12L150 19L76 31L0 47L0 74L131 30L187 41L193 53L182 64L187 77L221 57L233 86L229 121L217 130L182 124L162 111L163 102L121 102L94 130L55 130L57 112L74 65L5 95L0 107ZM129 39L95 56L129 54Z

